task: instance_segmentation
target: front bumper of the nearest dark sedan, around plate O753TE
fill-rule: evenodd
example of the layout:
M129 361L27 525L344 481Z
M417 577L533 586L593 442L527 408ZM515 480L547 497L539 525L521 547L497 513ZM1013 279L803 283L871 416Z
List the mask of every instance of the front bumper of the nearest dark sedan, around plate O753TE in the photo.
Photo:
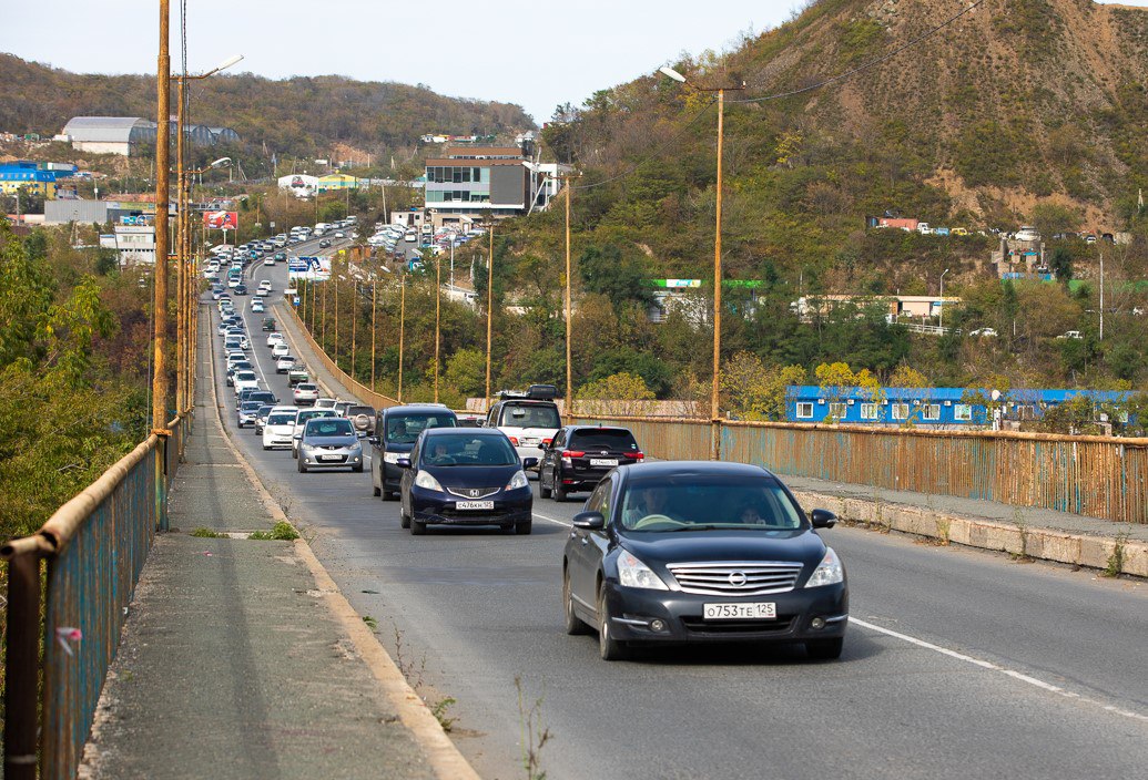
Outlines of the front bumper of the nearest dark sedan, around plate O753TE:
M703 604L773 601L777 618L771 621L705 621ZM845 635L848 623L846 584L796 588L788 593L732 599L697 595L681 591L649 591L606 583L606 602L613 616L615 639L650 642L794 642L836 639ZM813 619L825 622L813 627ZM654 631L650 623L660 619L665 627Z

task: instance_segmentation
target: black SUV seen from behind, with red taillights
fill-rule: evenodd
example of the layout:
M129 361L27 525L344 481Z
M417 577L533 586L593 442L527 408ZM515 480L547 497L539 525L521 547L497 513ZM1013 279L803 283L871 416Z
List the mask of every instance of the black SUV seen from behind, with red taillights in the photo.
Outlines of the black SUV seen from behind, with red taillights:
M629 428L566 426L542 450L538 494L565 501L567 493L594 490L610 469L643 460Z

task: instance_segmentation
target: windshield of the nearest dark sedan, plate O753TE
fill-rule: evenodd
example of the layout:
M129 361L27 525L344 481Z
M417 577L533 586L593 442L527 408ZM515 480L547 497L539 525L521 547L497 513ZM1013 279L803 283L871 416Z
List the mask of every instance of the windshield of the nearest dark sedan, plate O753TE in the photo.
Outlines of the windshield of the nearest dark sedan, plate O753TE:
M621 528L629 531L801 528L797 506L769 478L691 474L643 479L627 486L620 506Z

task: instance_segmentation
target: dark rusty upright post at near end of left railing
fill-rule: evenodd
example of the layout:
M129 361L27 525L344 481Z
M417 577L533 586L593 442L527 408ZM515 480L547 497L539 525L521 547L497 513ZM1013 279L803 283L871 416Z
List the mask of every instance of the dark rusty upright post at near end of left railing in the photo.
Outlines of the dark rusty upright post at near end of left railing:
M40 554L8 561L3 777L36 780L36 717L40 687Z

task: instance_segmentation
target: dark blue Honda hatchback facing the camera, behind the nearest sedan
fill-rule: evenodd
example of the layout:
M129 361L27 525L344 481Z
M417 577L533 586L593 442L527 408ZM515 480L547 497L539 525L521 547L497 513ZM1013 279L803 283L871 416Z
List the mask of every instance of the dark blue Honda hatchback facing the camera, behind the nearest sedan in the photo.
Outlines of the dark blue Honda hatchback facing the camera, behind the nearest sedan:
M400 483L400 522L418 536L427 525L499 525L529 533L534 494L523 463L497 428L428 428Z

